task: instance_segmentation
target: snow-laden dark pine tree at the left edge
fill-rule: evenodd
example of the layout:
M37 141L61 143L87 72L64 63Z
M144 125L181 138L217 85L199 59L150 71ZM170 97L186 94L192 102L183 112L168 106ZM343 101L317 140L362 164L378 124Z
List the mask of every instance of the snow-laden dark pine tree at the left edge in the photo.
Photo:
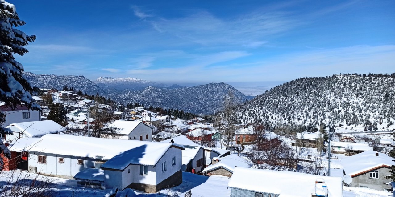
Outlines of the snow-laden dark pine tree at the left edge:
M0 102L5 103L10 109L15 109L18 105L26 105L29 109L40 110L28 91L33 87L23 76L23 66L15 61L13 54L23 56L28 52L24 46L36 39L35 35L15 29L25 24L19 20L15 6L4 0L0 0ZM0 110L0 134L9 134L11 130L5 129L2 125L5 121L5 114ZM0 151L5 151L3 141L0 139ZM5 151L5 154L9 154Z

